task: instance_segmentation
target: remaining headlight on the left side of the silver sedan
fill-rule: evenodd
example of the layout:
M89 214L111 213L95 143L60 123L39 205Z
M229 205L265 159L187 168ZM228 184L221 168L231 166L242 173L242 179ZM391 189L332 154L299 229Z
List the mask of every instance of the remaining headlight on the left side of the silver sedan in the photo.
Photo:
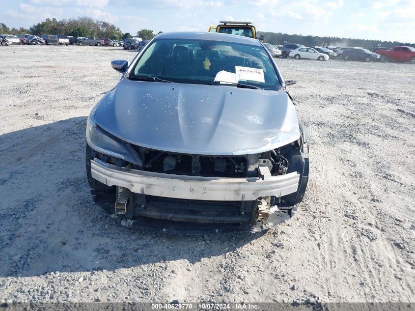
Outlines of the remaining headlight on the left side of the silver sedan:
M142 166L139 155L128 143L105 133L90 117L86 121L86 141L99 153Z

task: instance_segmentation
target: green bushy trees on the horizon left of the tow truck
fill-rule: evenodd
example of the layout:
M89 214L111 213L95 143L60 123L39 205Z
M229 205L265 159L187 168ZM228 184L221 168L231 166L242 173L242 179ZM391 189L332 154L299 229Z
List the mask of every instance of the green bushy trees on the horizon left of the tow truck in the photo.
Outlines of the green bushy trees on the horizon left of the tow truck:
M94 21L90 17L70 18L60 21L55 18L47 18L43 22L34 24L29 29L23 27L8 28L3 23L0 23L0 26L0 34L66 34L74 37L93 36L112 40L123 40L125 38L131 38L132 36L129 32L122 33L122 31L113 24L104 21ZM137 32L136 36L143 40L148 40L154 37L155 34L153 33L153 30L141 29Z

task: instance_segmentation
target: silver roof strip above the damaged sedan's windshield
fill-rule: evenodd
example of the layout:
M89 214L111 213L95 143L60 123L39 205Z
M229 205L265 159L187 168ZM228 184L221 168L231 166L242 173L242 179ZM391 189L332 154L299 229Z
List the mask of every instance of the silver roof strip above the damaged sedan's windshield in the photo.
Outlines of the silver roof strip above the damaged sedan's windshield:
M189 32L163 32L157 35L158 39L189 39L189 40L212 40L212 41L227 41L231 43L242 43L261 46L261 43L252 38L238 36L234 34L219 33L219 32L204 32L204 31L189 31Z

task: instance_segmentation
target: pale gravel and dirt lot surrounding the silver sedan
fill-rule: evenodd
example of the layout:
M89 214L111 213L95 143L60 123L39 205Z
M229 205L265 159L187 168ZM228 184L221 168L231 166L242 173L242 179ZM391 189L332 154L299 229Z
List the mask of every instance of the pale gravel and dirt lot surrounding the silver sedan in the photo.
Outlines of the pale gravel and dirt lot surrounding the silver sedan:
M86 182L86 116L134 56L0 47L0 300L415 301L415 66L277 59L311 144L299 212L167 236L119 225Z

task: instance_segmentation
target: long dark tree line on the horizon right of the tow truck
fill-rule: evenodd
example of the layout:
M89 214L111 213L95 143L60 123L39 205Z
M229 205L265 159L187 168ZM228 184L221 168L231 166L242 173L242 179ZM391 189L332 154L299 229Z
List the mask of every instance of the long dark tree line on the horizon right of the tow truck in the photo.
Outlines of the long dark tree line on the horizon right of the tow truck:
M351 38L339 38L339 37L319 37L319 36L304 36L301 34L287 34L282 32L262 32L258 31L258 34L265 36L265 42L271 44L303 44L307 47L331 45L331 46L354 46L371 49L377 47L380 44L382 47L392 47L394 45L405 45L413 46L415 44L404 43L404 42L391 42L391 41L380 41L380 40L366 40L366 39L351 39Z

